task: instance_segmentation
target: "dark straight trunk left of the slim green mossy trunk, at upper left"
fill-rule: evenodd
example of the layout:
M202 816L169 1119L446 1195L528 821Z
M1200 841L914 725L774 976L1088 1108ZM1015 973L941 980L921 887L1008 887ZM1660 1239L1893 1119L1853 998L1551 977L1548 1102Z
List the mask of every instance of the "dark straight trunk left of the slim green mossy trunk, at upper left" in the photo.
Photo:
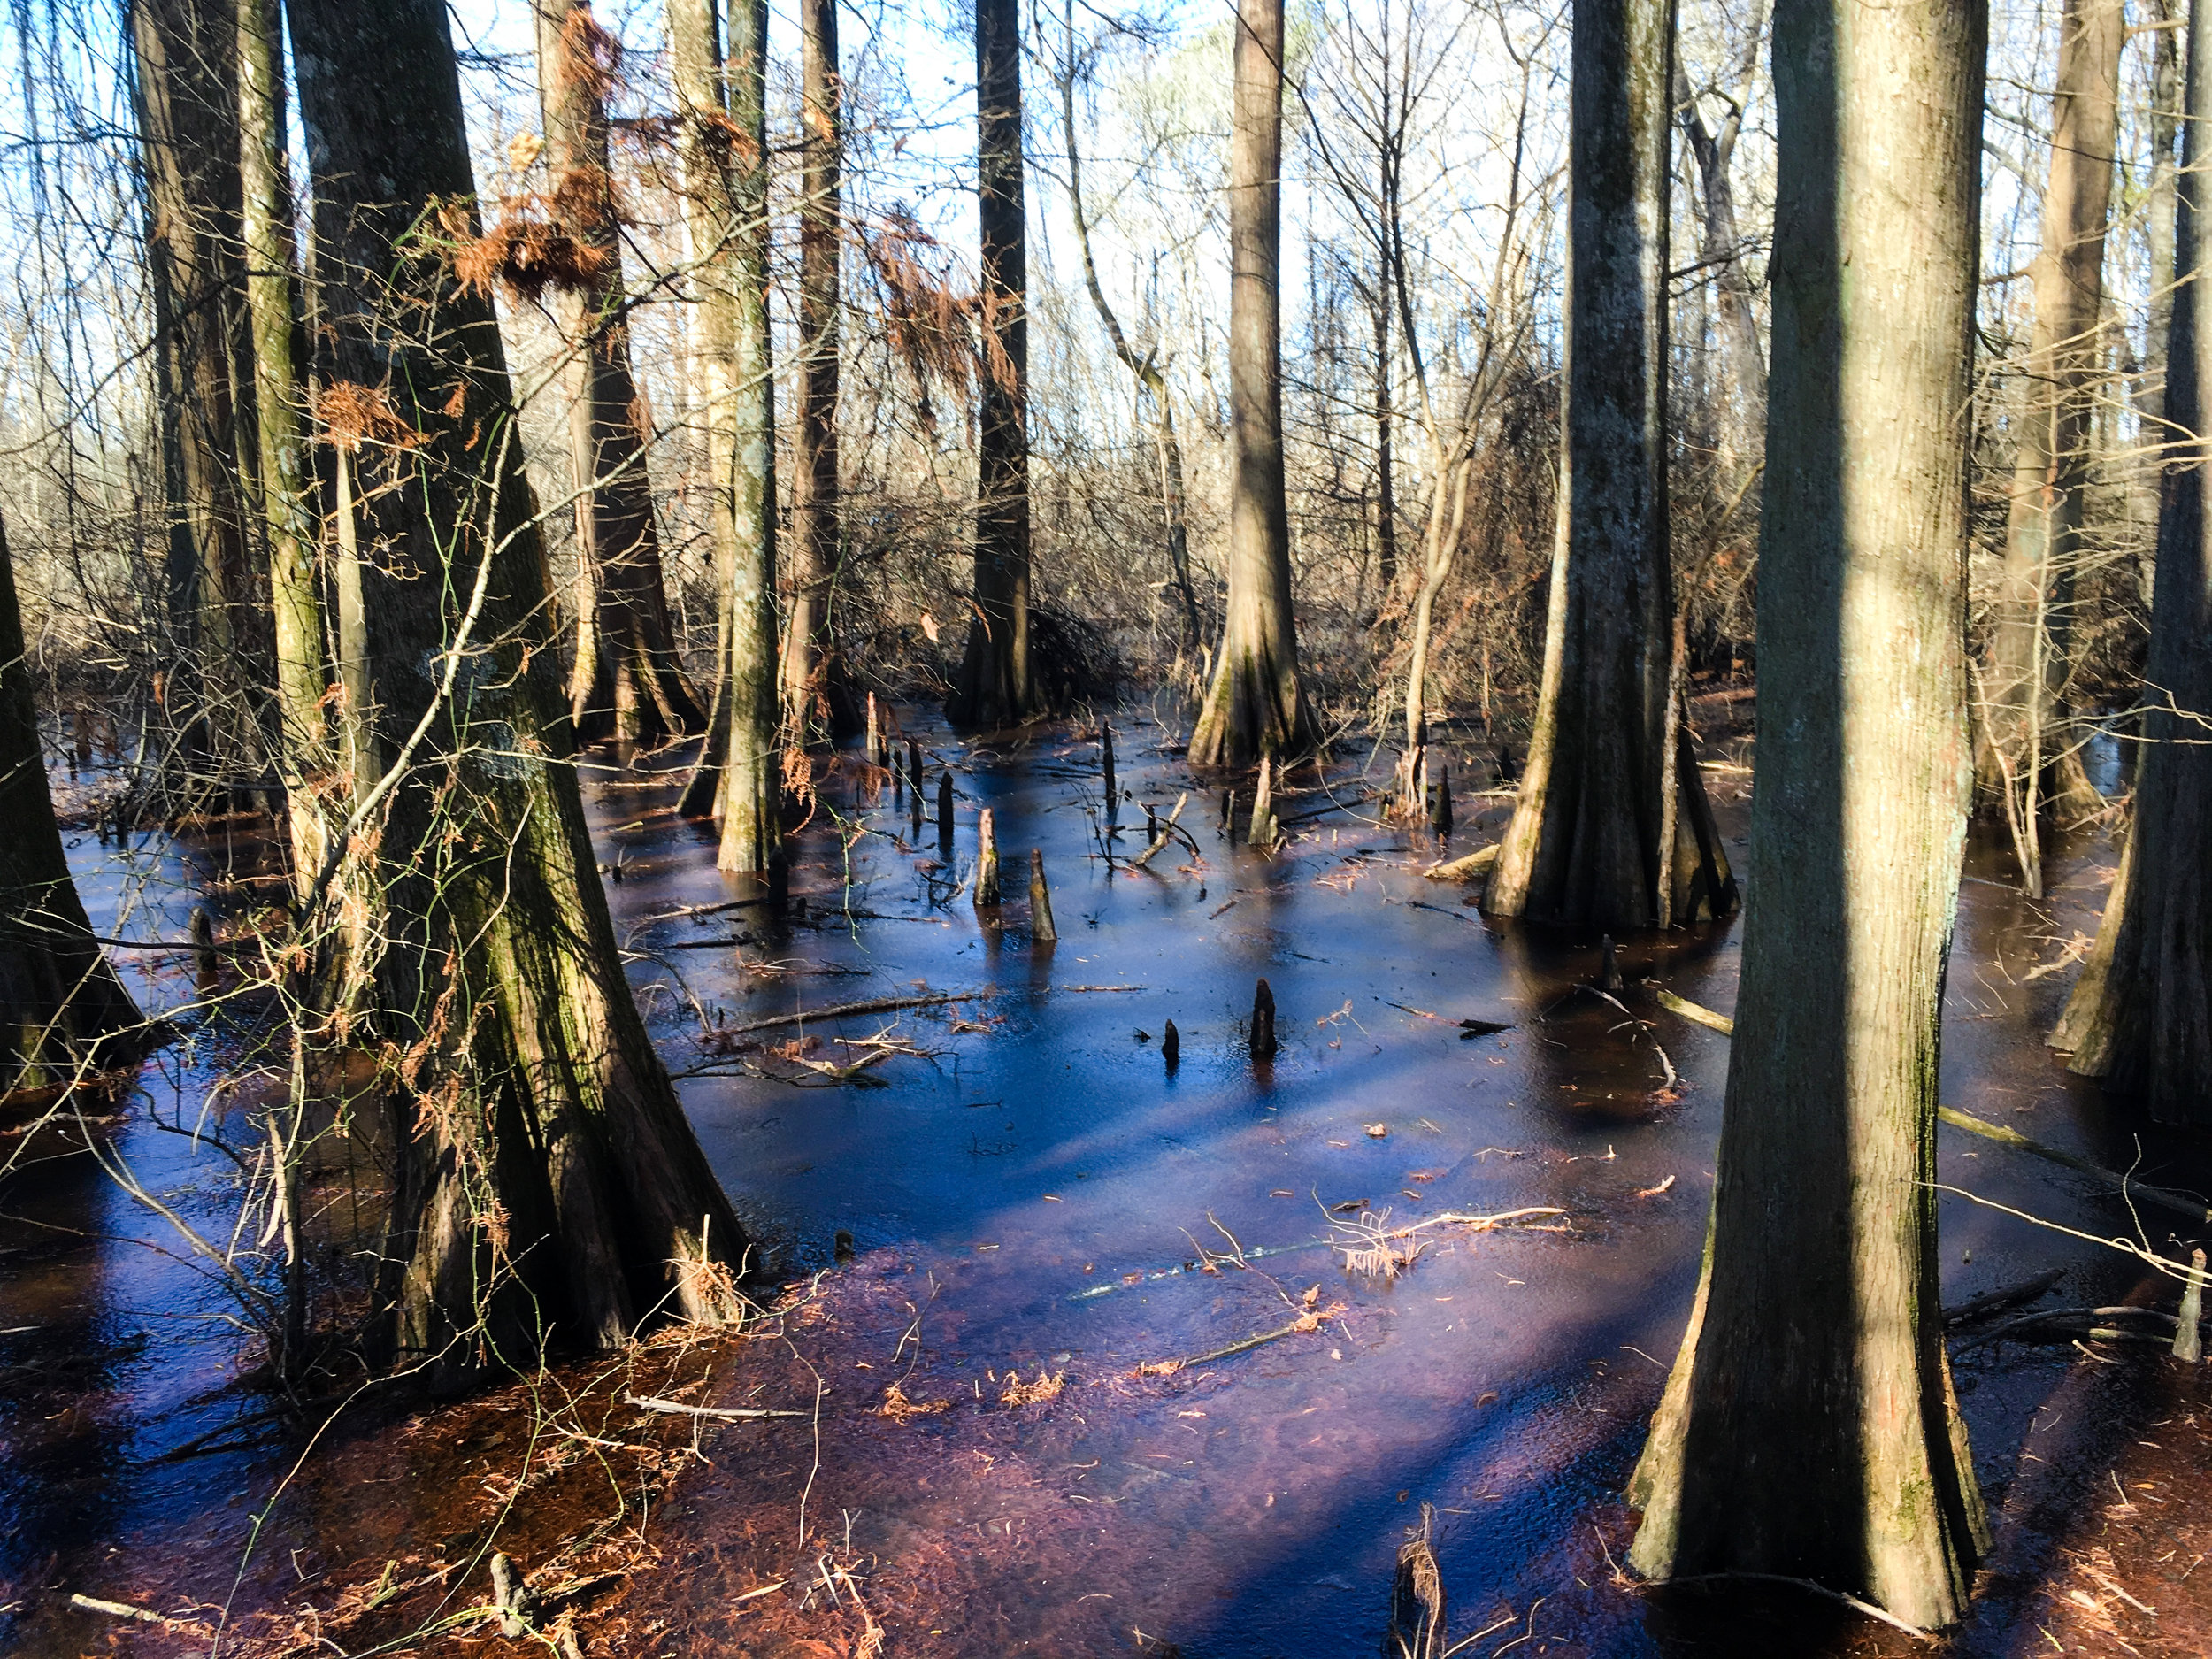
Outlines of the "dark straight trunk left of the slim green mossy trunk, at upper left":
M257 776L254 672L265 637L246 553L243 228L239 60L230 0L133 0L146 166L155 385L168 495L168 591L179 655L161 706L230 781ZM248 372L250 374L250 372Z

